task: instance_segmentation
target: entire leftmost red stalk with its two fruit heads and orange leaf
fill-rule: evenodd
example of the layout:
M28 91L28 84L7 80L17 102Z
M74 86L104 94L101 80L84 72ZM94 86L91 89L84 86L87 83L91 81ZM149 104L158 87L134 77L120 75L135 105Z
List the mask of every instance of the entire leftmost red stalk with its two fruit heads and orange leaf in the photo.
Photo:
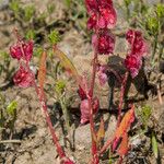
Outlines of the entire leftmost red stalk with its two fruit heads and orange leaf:
M33 40L23 40L15 31L17 36L17 43L10 47L11 57L19 61L19 70L15 72L13 77L13 81L15 85L20 87L35 87L36 94L38 96L43 113L45 115L47 125L49 127L54 144L56 145L57 152L60 156L61 163L63 164L73 164L73 162L66 156L65 151L62 150L58 138L56 136L55 129L52 127L47 105L46 97L44 93L44 81L46 77L46 52L44 51L40 58L39 72L38 72L38 85L36 83L35 74L30 68L30 61L33 56Z

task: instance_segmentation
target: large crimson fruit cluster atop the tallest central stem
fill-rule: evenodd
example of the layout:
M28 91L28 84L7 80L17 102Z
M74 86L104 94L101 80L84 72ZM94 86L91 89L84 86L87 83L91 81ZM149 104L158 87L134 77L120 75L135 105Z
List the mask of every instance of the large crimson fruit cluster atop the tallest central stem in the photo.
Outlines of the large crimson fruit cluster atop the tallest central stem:
M113 54L115 37L108 32L108 28L113 28L117 21L113 1L85 0L85 4L90 15L87 28L95 32L92 37L95 51L99 55Z

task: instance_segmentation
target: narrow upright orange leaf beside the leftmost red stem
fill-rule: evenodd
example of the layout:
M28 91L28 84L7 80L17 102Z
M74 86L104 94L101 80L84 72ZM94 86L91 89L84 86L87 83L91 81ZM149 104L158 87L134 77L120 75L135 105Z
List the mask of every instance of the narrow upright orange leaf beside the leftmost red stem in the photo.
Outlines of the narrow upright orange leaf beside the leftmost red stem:
M37 77L40 90L44 89L44 83L46 79L46 57L47 57L47 54L46 51L44 51L40 57L39 70L38 70L38 77Z

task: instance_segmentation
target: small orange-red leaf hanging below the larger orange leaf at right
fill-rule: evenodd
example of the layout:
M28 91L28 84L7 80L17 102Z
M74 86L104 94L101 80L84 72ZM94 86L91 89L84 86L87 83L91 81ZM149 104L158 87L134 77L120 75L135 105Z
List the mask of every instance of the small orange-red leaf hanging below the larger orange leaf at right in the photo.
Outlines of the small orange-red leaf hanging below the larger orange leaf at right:
M118 152L118 154L120 156L125 156L128 153L128 150L129 150L129 147L128 147L128 134L125 133L117 152Z

